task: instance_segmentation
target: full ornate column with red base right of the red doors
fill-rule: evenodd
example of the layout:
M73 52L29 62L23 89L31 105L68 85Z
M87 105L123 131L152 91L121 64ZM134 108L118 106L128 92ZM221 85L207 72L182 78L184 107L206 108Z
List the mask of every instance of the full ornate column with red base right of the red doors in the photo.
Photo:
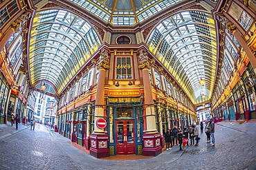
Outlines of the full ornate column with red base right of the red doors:
M161 134L156 130L156 111L149 78L149 69L152 62L147 57L145 50L140 50L140 65L138 67L143 72L143 84L145 94L145 111L147 130L143 134L143 156L158 156L162 153Z

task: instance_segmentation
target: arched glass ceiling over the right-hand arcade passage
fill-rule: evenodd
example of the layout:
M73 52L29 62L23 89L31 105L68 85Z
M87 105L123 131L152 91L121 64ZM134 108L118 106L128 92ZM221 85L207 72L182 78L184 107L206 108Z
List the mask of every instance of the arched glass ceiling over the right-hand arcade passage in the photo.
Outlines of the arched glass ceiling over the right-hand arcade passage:
M209 14L181 12L161 22L149 36L149 49L167 67L194 103L210 98L216 72L214 21ZM203 78L206 83L201 86Z

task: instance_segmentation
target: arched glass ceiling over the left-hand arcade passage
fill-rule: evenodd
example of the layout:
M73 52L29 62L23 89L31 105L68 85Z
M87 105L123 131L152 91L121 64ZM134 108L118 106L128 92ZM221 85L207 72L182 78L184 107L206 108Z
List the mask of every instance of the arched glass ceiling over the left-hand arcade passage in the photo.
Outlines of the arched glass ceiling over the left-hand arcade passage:
M30 39L31 83L48 81L61 92L99 45L91 25L75 14L37 12Z

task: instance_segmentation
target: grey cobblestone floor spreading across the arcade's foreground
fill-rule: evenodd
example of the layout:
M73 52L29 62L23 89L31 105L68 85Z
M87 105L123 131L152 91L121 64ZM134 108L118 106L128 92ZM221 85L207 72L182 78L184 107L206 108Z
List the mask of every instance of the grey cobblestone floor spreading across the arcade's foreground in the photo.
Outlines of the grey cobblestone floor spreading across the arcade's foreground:
M175 146L154 158L100 160L68 144L43 125L0 140L0 169L256 169L256 124L218 123L215 146L200 134L199 146ZM0 134L1 136L1 134Z

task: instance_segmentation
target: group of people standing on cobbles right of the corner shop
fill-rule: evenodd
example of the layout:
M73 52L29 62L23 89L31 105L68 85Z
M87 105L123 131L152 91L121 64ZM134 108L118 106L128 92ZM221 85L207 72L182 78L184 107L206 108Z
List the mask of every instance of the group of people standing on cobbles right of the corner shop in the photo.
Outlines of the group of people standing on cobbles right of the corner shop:
M207 142L210 142L210 138L212 138L211 146L214 146L214 122L212 119L210 121L205 122L205 134L207 136ZM200 124L201 134L203 134L203 123ZM184 140L190 137L190 145L194 145L194 140L196 140L195 146L199 145L199 127L197 123L193 123L190 127L184 126L183 129L181 127L174 126L173 129L167 129L167 131L163 132L163 136L165 138L165 146L166 150L172 149L172 147L176 144L179 144L180 151L182 151L182 145ZM187 141L187 146L189 146L189 142Z

